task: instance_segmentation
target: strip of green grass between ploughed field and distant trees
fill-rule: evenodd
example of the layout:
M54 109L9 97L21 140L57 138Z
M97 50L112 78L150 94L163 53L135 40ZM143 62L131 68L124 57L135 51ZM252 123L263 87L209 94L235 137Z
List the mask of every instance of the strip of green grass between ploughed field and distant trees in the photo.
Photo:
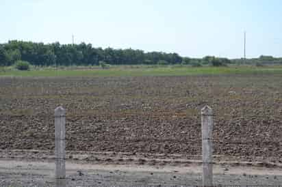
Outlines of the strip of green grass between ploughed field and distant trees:
M233 66L233 67L191 67L191 66L166 66L128 68L114 66L109 69L85 70L55 70L42 68L40 70L18 71L7 68L0 71L0 76L43 76L43 77L69 77L69 76L188 76L188 75L217 75L217 74L281 74L282 66Z

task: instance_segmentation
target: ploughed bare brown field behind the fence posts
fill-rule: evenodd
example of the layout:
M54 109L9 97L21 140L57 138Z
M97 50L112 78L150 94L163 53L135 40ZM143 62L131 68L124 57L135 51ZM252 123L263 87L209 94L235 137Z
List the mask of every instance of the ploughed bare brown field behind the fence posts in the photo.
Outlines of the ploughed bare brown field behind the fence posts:
M214 154L282 163L282 75L0 78L0 149L201 155L200 110L214 109Z

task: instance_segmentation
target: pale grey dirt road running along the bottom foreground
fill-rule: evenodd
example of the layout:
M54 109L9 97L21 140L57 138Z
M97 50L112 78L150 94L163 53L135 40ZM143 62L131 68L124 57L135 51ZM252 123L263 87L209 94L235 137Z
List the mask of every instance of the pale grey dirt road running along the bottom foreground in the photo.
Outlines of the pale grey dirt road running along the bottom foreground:
M54 186L55 164L49 161L0 160L0 186ZM67 186L198 186L201 165L149 166L66 162ZM214 184L279 186L282 169L214 166Z

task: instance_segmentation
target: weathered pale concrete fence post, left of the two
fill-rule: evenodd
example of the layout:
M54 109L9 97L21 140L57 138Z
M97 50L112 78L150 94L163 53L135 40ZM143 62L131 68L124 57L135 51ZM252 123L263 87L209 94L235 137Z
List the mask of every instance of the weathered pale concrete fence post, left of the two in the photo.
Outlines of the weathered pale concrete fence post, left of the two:
M66 186L66 110L55 109L55 185Z

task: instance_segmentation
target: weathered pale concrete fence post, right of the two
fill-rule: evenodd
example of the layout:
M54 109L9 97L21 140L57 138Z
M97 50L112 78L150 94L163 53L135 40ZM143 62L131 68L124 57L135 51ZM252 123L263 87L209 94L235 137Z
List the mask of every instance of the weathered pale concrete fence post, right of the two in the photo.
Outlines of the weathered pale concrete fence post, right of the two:
M212 152L213 140L212 131L214 128L212 109L209 106L201 109L202 124L202 154L203 154L203 186L213 186Z

